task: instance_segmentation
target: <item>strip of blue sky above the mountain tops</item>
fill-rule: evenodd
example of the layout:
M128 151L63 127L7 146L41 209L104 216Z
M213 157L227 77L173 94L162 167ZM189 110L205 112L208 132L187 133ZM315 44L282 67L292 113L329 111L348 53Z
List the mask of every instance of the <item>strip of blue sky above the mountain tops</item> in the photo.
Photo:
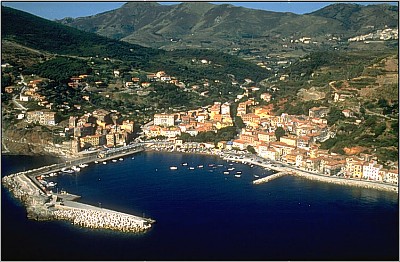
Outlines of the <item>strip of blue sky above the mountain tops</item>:
M2 1L1 4L18 10L22 10L49 20L62 19L65 17L83 17L95 15L109 10L117 9L126 2L17 2ZM160 4L178 4L180 2L159 2ZM214 4L232 4L252 9L261 9L274 12L292 12L296 14L305 14L321 9L327 5L338 3L328 1L310 1L310 2L294 2L294 1L264 1L264 2L212 2ZM350 2L348 2L350 3ZM398 2L351 2L357 4L381 4L390 3L398 5Z

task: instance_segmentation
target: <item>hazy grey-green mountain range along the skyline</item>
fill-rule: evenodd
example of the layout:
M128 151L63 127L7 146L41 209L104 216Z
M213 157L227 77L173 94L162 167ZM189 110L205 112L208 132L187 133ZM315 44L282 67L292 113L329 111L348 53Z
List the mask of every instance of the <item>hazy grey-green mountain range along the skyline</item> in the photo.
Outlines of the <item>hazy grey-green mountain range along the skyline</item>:
M330 34L349 38L365 33L366 26L375 30L397 27L398 11L385 4L333 4L310 14L296 15L205 2L128 2L113 11L59 22L157 48L228 48L240 40L249 43L257 38L269 44L275 41L274 36L315 38Z

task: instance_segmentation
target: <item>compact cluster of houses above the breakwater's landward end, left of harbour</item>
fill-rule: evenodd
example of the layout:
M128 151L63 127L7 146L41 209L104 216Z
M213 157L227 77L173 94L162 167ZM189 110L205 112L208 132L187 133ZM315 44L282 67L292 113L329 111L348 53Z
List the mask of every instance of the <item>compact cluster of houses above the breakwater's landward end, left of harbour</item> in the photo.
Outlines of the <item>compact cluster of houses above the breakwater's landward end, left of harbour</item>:
M118 112L98 109L81 117L71 116L66 133L73 136L72 152L99 146L125 146L132 141L134 122L120 119Z

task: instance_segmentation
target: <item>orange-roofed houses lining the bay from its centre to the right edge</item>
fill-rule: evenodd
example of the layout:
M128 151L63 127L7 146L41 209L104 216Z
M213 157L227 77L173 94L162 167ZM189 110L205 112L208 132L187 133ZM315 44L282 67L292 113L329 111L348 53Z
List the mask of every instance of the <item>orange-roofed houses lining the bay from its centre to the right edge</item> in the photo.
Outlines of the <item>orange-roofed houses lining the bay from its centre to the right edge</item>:
M265 100L271 99L268 94L262 96ZM217 148L246 150L251 146L263 158L324 175L398 184L398 170L384 169L371 155L349 157L319 149L320 142L335 135L325 119L329 108L310 108L308 116L285 113L276 116L272 109L271 105L258 106L253 98L239 103L236 114L242 118L245 127L237 139L221 141ZM196 136L199 132L216 131L225 126L223 124L233 125L229 104L215 102L199 110L155 114L153 124L145 126L143 131L148 138L161 135L181 143L176 138L182 133ZM277 136L278 128L284 131L284 135Z

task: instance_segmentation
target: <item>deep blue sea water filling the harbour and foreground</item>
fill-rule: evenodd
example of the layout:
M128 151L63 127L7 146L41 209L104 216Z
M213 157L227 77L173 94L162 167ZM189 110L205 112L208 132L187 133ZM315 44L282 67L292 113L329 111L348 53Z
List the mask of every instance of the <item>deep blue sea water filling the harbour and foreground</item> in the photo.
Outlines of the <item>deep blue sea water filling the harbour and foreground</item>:
M46 161L57 160L2 156L2 176ZM253 185L253 175L270 173L234 164L243 172L236 178L223 174L226 166L216 157L147 152L52 179L82 202L155 219L140 236L28 220L2 188L1 258L398 260L398 195L295 177Z

